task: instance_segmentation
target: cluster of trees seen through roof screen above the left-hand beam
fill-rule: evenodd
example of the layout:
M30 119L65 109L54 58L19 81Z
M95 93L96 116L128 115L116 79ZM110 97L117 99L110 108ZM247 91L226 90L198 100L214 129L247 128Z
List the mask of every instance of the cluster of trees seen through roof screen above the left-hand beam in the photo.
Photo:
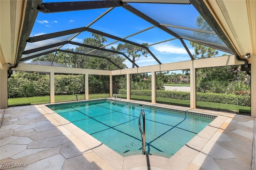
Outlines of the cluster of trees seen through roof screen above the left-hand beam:
M106 42L106 38L103 36L100 36L98 34L92 34L92 38L85 38L84 44L92 45L95 47L102 47L104 46L104 43ZM76 49L65 49L66 51L75 51L79 53L88 53L100 57L108 57L110 55L116 54L116 53L110 53L107 51L102 50L94 50L92 48L78 46ZM93 51L94 50L94 51ZM111 50L116 50L114 47L111 47ZM55 57L54 53L49 53L46 55L43 55L41 57L37 57L33 59L32 61L52 61L54 58L54 62L59 63L61 65L65 65L67 67L74 67L74 68L86 68L86 69L102 69L102 70L114 70L118 69L114 64L112 64L108 59L103 59L100 57L91 57L86 55L78 55L74 53L68 53L68 52L57 52ZM121 68L127 68L127 66L124 64L125 58L121 57L120 55L111 56L108 57L111 61L116 63Z

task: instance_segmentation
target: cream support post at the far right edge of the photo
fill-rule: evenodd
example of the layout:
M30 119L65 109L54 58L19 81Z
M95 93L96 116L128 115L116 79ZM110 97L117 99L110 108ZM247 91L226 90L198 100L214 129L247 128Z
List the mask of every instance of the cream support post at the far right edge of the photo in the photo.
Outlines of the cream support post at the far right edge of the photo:
M252 57L251 57L252 58ZM251 65L251 117L256 117L256 59L252 58Z

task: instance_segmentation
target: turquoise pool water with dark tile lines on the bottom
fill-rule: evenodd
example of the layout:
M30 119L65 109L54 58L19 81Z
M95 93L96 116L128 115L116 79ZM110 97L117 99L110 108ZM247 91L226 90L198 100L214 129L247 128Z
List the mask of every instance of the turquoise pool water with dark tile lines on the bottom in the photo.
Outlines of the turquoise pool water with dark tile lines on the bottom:
M145 105L110 103L106 100L54 104L48 107L122 156L142 154L138 127L141 109L146 118L146 153L167 158L214 119L188 112L178 113Z

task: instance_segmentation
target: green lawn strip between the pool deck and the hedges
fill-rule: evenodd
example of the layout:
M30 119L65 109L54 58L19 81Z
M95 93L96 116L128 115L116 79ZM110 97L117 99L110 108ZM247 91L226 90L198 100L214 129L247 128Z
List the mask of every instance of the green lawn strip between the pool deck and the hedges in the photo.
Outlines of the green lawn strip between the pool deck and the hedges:
M109 97L109 94L90 94L89 99L98 99L98 98L105 98ZM84 95L78 95L80 100L84 100ZM121 98L126 99L126 95L121 95ZM136 96L131 95L131 99L139 100L139 101L148 101L151 102L151 96ZM75 95L58 95L55 96L55 102L63 102L63 101L76 101ZM180 99L169 99L163 97L156 97L157 103L165 103L169 105L178 105L178 106L185 106L190 107L189 100L180 100ZM8 99L8 106L22 106L22 105L36 105L36 104L44 104L50 103L50 97L27 97L27 98L15 98L15 99ZM211 103L211 102L202 102L197 101L196 107L201 109L209 109L209 110L216 110L216 111L227 111L232 113L241 113L245 115L250 115L251 108L239 105L230 105L230 104L222 104L222 103Z

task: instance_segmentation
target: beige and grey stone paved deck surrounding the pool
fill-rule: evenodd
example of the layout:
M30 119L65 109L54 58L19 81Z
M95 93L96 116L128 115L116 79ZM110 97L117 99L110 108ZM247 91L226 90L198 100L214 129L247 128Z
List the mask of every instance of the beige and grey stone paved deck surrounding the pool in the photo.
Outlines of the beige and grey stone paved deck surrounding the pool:
M218 117L171 158L123 157L45 105L1 109L0 119L3 114L4 117L0 128L0 169L250 170L254 167L253 117L155 105Z

